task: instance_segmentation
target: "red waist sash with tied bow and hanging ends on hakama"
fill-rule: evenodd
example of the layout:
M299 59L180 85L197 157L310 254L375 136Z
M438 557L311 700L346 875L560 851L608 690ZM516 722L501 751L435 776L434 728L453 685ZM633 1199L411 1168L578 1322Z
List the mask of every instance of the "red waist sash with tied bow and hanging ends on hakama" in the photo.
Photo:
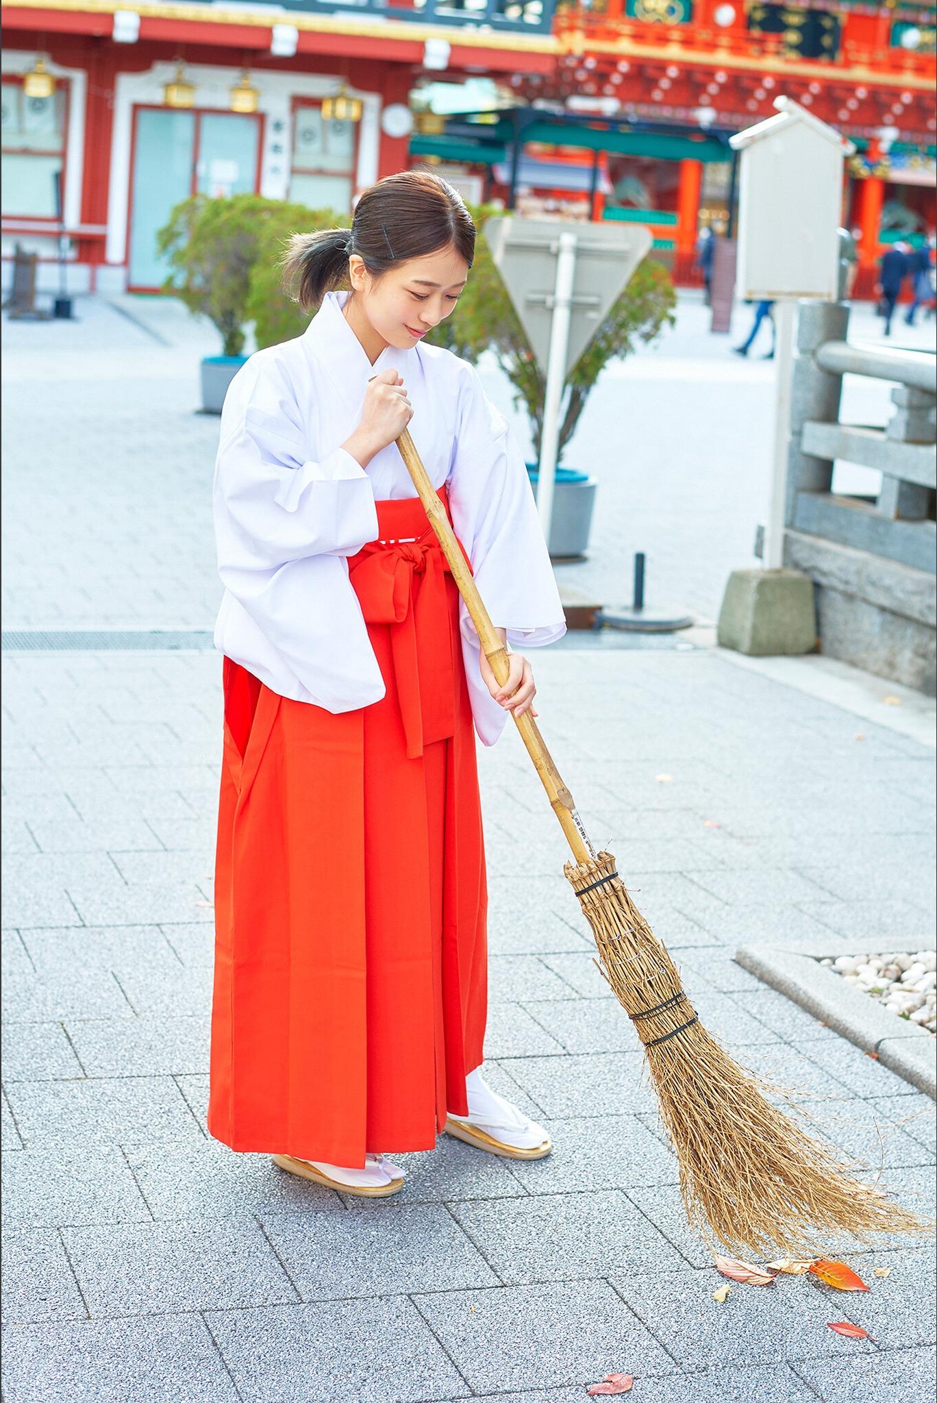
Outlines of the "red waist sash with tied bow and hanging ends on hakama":
M439 498L449 515L445 487ZM407 758L412 760L424 753L424 745L456 730L454 668L461 666L461 655L449 596L457 586L419 498L376 505L379 537L349 557L348 574L365 622L390 629Z

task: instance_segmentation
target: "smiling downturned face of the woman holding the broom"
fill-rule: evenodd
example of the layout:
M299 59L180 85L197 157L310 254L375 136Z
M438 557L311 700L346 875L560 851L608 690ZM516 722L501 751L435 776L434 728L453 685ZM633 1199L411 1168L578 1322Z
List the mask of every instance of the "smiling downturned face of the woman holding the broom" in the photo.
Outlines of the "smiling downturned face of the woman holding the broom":
M368 321L387 345L408 351L447 317L468 276L468 264L454 248L411 258L373 279L352 254L349 276Z

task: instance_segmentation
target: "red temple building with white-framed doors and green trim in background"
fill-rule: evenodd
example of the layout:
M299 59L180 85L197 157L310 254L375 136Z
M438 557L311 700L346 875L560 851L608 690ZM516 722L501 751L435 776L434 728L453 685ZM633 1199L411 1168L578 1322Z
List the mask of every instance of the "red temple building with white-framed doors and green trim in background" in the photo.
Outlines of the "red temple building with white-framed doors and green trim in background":
M7 0L3 24L4 278L20 246L52 286L65 247L72 292L154 290L191 192L344 219L429 163L473 201L648 224L694 281L700 229L732 226L728 137L780 93L857 147L856 295L937 223L933 0ZM460 105L468 80L495 101Z

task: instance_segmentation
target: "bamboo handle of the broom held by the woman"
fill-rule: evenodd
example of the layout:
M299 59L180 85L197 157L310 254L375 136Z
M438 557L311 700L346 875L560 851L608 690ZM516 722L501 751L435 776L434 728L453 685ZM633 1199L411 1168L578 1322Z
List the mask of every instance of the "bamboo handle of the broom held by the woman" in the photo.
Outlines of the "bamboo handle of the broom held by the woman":
M407 471L410 473L414 487L419 494L419 499L426 509L429 525L436 533L443 556L449 561L453 578L459 585L459 593L466 600L466 607L468 609L471 622L476 626L478 641L484 650L491 671L494 672L498 683L504 685L508 680L511 671L508 651L495 633L488 610L485 609L481 595L478 593L471 571L466 564L466 557L463 556L461 547L456 540L456 533L453 532L449 518L446 516L446 509L436 492L436 488L429 481L429 474L426 473L414 441L410 436L410 429L403 431L397 439L397 448L400 449L400 456L407 464ZM585 828L582 826L582 821L572 801L572 794L562 783L553 756L550 755L550 751L537 730L537 723L530 716L530 711L525 711L523 716L515 716L513 720L520 731L520 738L527 748L527 753L534 763L534 769L540 776L543 787L547 791L553 812L557 815L560 826L565 833L572 856L578 863L589 861L595 857L595 850L589 842Z

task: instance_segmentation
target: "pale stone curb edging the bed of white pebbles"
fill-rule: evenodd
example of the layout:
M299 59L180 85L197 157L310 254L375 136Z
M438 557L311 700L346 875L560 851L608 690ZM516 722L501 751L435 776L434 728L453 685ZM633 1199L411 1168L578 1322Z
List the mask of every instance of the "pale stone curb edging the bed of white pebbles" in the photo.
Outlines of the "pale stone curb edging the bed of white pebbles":
M818 960L898 950L901 937L818 937L797 944L741 946L735 960L773 989L787 995L835 1033L874 1052L882 1066L937 1100L937 1040L916 1023L889 1013L870 995L844 982Z

